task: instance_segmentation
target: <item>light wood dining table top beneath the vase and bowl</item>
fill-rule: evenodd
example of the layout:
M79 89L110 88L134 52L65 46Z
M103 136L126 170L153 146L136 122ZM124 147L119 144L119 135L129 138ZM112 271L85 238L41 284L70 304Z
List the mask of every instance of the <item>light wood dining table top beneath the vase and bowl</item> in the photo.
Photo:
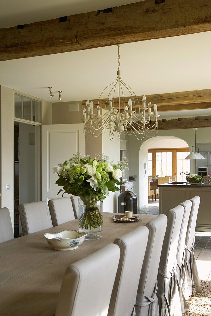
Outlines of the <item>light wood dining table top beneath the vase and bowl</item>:
M70 264L156 217L139 215L141 222L115 223L113 215L103 212L103 230L97 233L102 239L84 240L75 250L53 250L43 234L78 230L78 220L0 244L0 315L53 316L62 278Z

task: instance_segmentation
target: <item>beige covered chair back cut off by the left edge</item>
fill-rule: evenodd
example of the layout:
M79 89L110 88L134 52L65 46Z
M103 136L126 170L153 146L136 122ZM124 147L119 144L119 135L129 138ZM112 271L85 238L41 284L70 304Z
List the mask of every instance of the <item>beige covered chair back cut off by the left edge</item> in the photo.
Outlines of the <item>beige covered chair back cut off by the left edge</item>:
M11 239L14 239L12 222L8 208L3 207L0 209L0 244Z

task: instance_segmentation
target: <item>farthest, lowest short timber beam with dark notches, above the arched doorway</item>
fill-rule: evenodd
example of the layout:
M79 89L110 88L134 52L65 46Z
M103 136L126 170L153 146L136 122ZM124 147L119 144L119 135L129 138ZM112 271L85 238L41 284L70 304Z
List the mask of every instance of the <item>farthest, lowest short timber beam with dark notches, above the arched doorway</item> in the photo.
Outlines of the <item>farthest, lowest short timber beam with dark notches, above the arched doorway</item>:
M158 121L158 130L177 130L193 127L211 127L211 116Z

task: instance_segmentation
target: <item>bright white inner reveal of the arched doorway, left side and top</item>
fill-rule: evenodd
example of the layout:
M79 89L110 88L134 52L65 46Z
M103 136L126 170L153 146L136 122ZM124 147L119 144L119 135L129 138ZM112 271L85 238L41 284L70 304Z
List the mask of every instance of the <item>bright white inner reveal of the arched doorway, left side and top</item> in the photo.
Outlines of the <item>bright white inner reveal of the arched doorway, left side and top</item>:
M141 144L139 150L139 207L147 205L148 170L147 165L145 169L144 163L147 162L148 150L149 148L162 148L162 143L163 148L190 147L184 139L175 136L156 136Z

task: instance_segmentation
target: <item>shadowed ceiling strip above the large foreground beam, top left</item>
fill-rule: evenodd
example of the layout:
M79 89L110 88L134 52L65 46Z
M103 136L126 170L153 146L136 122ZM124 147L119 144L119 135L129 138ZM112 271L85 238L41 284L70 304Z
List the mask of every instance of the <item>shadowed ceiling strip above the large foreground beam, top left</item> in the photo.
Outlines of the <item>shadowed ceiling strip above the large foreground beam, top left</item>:
M0 28L103 10L143 0L1 0Z

